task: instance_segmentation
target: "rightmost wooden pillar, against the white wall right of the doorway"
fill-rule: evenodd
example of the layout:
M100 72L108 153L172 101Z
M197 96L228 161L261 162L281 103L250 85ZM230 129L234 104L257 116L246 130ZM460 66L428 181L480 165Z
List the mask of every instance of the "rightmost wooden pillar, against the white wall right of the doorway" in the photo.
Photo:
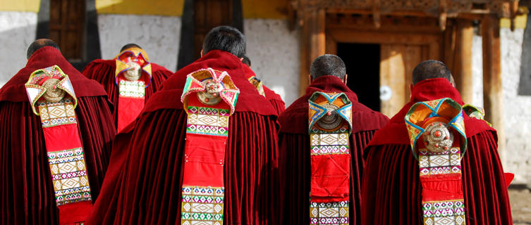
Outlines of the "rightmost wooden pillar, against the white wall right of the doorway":
M498 151L505 160L505 131L503 127L503 89L501 86L501 50L499 18L485 15L482 20L483 42L483 104L485 120L498 131Z

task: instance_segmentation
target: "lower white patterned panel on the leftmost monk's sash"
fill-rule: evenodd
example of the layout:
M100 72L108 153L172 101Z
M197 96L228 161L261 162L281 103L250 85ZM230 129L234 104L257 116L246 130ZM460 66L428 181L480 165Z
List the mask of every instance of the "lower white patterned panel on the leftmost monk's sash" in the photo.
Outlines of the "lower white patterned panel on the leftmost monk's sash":
M48 152L57 205L90 201L90 186L83 149Z

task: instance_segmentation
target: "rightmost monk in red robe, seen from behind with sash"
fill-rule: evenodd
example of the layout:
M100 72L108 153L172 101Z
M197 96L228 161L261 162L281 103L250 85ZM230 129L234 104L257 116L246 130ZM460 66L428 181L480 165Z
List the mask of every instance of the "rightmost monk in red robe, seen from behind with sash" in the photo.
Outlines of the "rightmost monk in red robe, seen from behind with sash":
M362 224L513 224L496 130L463 113L452 80L437 60L413 70L409 103L365 152Z

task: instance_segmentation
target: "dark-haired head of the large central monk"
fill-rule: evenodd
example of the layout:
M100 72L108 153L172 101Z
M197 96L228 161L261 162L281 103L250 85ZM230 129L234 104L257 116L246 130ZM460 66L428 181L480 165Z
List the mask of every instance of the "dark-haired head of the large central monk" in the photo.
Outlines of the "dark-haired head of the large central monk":
M212 50L226 51L242 58L245 56L245 36L234 27L214 27L203 41L203 54Z

